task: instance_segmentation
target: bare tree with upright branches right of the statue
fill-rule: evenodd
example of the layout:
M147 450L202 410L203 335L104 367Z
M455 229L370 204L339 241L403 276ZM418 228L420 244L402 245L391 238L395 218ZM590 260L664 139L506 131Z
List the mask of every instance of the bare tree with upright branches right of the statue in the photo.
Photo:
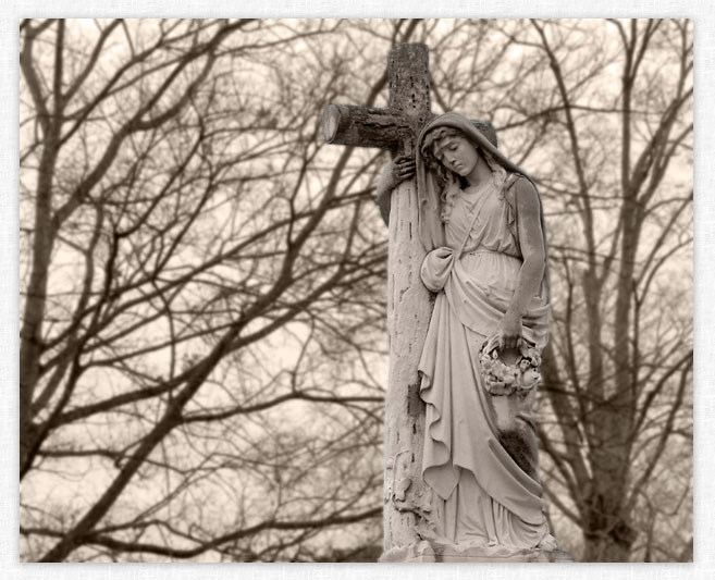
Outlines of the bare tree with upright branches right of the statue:
M558 425L541 433L550 497L582 530L584 560L648 557L654 542L678 559L673 533L638 521L671 504L691 528L690 478L677 473L691 469L692 286L679 260L692 256L692 24L531 26L521 44L546 57L553 86L540 113L552 162L538 158L535 174L550 223L560 217L543 377Z

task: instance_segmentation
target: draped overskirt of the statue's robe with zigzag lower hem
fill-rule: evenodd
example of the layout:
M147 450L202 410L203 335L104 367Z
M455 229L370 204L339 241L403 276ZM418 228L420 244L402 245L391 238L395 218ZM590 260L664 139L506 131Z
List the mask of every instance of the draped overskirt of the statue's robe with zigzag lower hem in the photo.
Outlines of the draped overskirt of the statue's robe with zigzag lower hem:
M520 519L541 523L541 485L498 443L490 395L476 369L485 336L459 322L444 294L437 295L434 312L427 341L436 348L424 349L420 360L420 395L427 403L430 435L424 443L424 481L447 499L459 469L466 469L493 499Z

